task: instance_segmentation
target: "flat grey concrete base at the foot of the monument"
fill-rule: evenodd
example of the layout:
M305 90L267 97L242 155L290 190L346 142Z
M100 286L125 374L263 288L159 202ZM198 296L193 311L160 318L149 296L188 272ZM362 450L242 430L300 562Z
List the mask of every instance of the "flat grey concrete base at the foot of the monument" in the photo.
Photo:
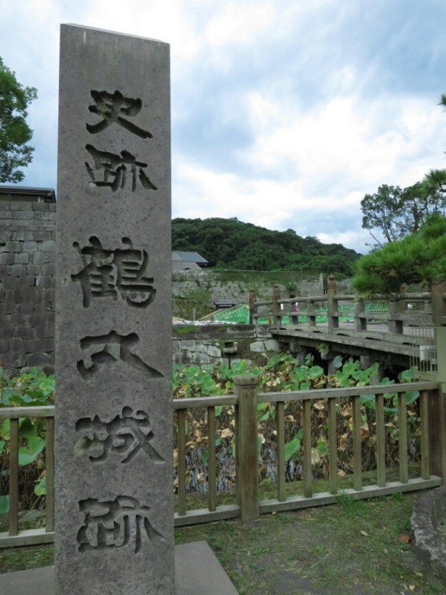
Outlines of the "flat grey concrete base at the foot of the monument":
M175 585L176 595L237 595L206 541L175 546ZM0 593L55 595L54 566L0 574Z

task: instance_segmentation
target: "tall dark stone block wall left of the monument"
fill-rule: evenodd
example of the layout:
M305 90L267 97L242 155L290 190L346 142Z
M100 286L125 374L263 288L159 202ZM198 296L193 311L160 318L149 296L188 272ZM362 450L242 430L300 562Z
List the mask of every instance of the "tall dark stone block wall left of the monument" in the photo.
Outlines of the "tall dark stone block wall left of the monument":
M54 363L55 250L56 204L0 202L0 362L5 370Z

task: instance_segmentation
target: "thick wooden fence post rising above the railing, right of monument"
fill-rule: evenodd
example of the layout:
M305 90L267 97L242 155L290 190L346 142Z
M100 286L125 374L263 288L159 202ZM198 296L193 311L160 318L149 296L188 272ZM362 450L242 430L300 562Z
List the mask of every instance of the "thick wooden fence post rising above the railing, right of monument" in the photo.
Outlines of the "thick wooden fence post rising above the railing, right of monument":
M259 518L259 452L257 447L257 379L236 376L239 398L235 417L235 491L243 522Z

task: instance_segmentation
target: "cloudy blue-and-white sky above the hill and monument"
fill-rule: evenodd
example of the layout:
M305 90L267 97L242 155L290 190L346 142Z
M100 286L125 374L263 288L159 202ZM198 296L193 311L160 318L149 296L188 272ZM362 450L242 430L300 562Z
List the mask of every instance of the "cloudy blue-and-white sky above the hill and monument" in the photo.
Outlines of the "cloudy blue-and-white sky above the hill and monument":
M445 168L444 0L0 0L37 87L24 186L56 188L60 23L170 43L172 211L366 252L360 201Z

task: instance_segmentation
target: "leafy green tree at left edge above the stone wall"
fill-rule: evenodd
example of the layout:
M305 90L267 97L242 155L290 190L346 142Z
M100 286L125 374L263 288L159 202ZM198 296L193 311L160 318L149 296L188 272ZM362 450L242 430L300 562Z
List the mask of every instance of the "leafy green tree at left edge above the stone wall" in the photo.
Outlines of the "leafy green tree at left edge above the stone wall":
M23 87L0 58L0 182L20 182L32 161L34 148L27 143L32 130L27 125L27 106L36 99L34 87Z

